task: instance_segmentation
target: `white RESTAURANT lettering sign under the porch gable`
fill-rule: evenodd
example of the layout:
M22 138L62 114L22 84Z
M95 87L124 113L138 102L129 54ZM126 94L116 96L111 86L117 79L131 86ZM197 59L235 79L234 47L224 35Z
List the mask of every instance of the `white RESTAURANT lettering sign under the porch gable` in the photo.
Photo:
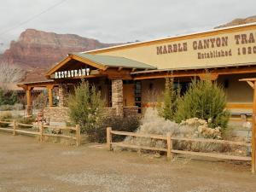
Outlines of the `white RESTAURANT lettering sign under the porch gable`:
M90 68L82 68L82 69L55 72L55 79L76 78L76 77L84 77L88 75L90 75Z

